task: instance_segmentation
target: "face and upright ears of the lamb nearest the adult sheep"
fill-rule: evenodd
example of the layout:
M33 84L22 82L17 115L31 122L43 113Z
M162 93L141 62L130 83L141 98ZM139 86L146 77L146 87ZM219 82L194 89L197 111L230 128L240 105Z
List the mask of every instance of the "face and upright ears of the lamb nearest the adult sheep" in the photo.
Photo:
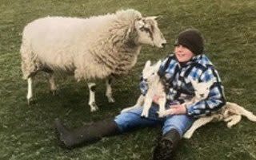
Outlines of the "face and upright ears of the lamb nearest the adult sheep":
M146 61L145 67L142 71L142 78L147 84L152 84L159 80L158 70L161 65L161 60L157 64L150 65L150 60Z

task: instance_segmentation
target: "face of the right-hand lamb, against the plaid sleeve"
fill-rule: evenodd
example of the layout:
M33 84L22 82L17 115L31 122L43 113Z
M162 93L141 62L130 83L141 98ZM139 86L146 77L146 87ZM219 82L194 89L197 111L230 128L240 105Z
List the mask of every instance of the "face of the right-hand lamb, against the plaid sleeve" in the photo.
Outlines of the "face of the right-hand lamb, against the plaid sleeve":
M210 87L214 84L215 80L210 80L209 82L200 82L196 80L191 80L191 84L194 88L194 94L196 100L204 100L210 93Z

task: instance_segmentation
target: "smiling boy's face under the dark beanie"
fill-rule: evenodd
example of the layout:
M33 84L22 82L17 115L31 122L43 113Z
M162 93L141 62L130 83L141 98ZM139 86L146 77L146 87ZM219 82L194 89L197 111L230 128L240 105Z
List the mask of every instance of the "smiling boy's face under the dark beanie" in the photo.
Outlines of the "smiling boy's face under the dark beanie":
M194 53L182 45L175 46L174 53L178 59L178 62L187 62L194 57Z

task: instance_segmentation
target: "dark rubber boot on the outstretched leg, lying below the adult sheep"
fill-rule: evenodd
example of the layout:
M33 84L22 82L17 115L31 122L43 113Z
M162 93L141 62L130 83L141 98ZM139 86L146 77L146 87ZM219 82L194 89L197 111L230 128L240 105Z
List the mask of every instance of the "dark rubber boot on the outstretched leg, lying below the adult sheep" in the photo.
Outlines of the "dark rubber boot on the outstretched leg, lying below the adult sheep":
M119 133L118 125L113 119L90 123L85 126L78 127L73 131L67 129L60 119L55 119L54 125L62 146L69 149L77 146L83 146L91 142L97 142L102 139L102 137L117 135Z

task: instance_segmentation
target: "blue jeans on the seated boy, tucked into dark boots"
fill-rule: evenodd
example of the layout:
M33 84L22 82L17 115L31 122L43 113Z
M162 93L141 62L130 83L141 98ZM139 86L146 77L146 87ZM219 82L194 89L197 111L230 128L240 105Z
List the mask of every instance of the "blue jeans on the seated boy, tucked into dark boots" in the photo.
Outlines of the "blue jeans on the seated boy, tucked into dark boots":
M137 107L116 116L114 121L118 124L119 130L126 132L136 127L154 127L156 125L162 125L162 135L165 135L171 129L175 129L182 137L195 120L189 115L168 115L164 118L159 118L157 115L158 105L156 104L150 107L149 117L142 119L142 110L143 107Z

